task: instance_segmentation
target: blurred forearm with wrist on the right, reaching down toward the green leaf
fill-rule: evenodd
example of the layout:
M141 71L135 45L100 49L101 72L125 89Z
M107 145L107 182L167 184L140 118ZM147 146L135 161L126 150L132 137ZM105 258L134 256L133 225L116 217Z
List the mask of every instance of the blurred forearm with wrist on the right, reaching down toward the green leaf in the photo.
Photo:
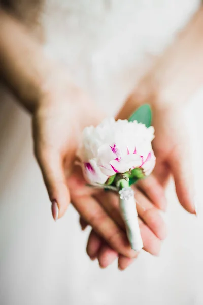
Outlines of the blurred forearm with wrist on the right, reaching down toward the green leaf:
M129 116L143 103L180 104L203 84L203 8L139 81L124 109ZM125 111L124 111L125 112ZM124 113L122 110L122 113Z

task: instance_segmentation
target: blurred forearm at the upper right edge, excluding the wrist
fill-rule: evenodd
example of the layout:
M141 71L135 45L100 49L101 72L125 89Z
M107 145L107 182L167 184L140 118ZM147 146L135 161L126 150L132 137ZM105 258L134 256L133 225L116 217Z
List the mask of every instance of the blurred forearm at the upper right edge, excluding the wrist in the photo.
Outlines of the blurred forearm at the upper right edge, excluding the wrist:
M185 102L203 84L203 8L166 50L150 72L160 97Z

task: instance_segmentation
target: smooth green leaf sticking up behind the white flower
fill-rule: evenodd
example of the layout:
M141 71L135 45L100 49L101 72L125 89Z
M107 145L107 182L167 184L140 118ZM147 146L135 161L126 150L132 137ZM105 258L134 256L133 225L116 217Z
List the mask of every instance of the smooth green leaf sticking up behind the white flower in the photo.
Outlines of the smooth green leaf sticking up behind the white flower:
M145 104L140 106L128 119L129 122L133 122L134 120L137 120L138 123L145 124L146 127L150 127L152 121L152 111L150 105Z

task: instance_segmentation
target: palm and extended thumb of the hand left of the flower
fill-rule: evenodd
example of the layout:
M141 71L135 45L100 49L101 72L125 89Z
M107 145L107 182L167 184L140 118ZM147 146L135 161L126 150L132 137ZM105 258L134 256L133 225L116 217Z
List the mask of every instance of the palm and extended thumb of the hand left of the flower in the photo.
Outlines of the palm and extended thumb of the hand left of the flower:
M59 79L57 74L48 87L33 111L33 139L53 218L57 220L70 202L66 176L72 170L81 132L86 125L98 123L100 112L64 76Z

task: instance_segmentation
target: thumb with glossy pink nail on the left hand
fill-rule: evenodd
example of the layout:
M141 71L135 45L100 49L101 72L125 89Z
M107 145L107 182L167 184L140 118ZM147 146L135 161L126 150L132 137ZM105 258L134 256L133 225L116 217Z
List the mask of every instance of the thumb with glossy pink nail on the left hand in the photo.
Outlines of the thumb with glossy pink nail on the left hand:
M64 215L70 203L62 158L57 151L46 149L39 149L36 157L52 203L52 215L56 221Z

